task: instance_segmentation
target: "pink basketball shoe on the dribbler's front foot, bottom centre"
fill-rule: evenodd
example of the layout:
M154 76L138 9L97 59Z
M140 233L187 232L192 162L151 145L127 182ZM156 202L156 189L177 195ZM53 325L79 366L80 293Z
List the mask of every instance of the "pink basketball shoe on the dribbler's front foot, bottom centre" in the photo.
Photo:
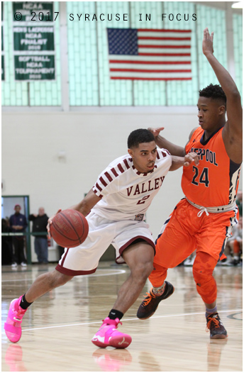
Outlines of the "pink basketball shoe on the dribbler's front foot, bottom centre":
M116 347L116 348L126 348L131 345L131 336L118 332L118 324L121 324L118 318L111 320L110 318L105 318L103 320L99 331L94 335L91 342L98 347Z

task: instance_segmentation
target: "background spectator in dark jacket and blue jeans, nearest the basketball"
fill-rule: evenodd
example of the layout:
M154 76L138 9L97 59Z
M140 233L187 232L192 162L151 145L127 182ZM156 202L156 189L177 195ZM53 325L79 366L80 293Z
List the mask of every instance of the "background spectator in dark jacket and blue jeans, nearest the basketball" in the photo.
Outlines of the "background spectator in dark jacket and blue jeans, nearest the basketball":
M33 213L29 216L29 221L33 221L32 233L43 233L35 235L35 254L39 263L48 263L48 216L43 207L38 210L38 215Z

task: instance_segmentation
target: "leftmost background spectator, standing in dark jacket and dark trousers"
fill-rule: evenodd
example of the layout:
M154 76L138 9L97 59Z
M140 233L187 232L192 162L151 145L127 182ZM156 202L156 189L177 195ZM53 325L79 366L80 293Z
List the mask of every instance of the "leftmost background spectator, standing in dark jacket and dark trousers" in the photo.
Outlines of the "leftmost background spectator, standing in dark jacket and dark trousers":
M13 235L13 257L12 257L12 267L17 267L21 265L26 267L26 255L24 252L25 248L25 236L23 233L26 231L27 219L26 216L21 213L21 206L14 206L15 213L9 218L9 225L13 233L22 233L22 235Z

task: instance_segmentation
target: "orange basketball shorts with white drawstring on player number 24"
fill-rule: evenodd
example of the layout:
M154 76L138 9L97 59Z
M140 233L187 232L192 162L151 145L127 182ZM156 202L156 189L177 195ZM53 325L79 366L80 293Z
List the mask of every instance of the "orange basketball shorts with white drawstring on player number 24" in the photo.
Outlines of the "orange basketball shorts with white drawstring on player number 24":
M154 262L166 268L173 268L183 262L196 250L206 252L218 261L223 259L226 241L231 237L237 223L236 211L226 213L204 212L197 216L199 209L182 199L167 219L156 240Z

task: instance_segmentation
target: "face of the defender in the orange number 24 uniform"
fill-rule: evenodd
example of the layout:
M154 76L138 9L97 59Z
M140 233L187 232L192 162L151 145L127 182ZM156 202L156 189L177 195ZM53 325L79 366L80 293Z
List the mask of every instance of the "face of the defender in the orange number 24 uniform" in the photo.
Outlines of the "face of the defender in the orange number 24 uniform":
M199 125L203 130L214 132L223 125L224 106L220 106L217 100L207 97L199 97L197 104Z

